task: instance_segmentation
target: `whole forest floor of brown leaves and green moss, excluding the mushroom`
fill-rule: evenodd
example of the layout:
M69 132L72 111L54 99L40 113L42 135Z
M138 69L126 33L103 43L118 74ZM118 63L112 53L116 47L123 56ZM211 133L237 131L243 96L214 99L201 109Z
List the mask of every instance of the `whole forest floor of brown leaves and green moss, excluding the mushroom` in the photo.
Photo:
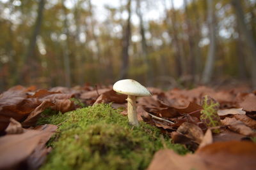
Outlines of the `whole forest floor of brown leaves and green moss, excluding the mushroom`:
M196 87L138 97L112 86L15 86L0 95L0 169L253 169L256 92Z

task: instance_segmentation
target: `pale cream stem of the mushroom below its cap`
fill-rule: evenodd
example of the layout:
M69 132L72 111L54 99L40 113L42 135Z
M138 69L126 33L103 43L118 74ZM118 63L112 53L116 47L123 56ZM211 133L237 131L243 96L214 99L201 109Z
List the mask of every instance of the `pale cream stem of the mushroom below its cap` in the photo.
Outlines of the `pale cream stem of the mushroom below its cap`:
M136 96L128 95L127 97L127 112L128 120L131 125L139 126L137 111L136 111Z

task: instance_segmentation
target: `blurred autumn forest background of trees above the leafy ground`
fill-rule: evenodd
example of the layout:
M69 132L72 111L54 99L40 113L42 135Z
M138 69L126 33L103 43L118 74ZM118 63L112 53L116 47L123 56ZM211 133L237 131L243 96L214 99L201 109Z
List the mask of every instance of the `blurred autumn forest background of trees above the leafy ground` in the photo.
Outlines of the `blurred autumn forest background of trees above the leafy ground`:
M179 4L179 5L178 5ZM13 85L256 87L254 0L0 0L0 91Z

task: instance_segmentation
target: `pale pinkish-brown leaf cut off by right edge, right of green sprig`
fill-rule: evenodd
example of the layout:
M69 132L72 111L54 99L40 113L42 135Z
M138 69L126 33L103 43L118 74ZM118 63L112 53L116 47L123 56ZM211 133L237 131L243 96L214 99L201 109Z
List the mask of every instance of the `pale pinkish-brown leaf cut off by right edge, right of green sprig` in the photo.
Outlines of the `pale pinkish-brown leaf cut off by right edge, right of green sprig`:
M254 94L248 94L239 106L245 111L256 111L256 96Z

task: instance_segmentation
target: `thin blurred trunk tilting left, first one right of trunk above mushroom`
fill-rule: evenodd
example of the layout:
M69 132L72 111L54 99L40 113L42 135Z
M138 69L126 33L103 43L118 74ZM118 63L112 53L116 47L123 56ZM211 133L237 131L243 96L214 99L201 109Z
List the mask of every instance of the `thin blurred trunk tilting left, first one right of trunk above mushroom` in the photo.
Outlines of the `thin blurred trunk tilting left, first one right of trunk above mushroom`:
M141 13L141 0L137 0L137 8L136 13L140 18L140 34L141 34L141 48L142 48L142 57L144 62L147 64L147 85L152 86L154 82L154 76L152 73L152 66L150 64L150 60L148 59L148 45L147 40L145 38L145 27L143 24L143 16Z

